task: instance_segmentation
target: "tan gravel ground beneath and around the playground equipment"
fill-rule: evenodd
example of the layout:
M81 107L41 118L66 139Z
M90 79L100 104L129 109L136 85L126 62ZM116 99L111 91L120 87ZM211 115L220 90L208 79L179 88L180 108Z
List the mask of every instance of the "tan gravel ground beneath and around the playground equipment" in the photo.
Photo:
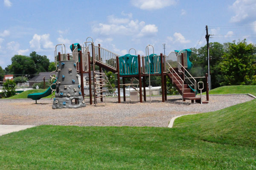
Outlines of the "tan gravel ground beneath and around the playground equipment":
M203 96L205 100L205 96ZM107 105L88 105L79 109L52 109L50 99L38 104L31 99L0 100L0 124L5 125L74 125L74 126L149 126L167 127L172 117L190 113L210 112L250 101L248 95L210 95L209 104L182 104L180 96L168 96L165 103L161 97L151 97L145 103L117 103L117 98L107 98ZM147 98L149 100L149 98ZM122 98L121 98L122 101Z

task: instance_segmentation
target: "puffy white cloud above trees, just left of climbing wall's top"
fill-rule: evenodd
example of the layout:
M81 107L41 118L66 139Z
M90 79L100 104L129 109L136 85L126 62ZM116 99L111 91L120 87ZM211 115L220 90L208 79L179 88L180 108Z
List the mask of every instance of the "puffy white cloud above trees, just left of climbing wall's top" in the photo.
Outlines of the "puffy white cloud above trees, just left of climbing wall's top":
M33 39L29 41L30 48L35 49L37 51L41 51L44 49L54 48L53 43L49 40L49 34L37 35L33 36Z

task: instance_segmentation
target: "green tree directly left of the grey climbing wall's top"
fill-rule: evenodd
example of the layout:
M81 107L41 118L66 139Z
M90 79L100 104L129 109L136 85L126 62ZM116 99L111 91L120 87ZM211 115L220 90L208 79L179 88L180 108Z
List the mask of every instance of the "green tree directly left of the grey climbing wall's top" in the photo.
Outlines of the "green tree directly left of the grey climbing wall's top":
M35 62L37 72L47 72L50 64L46 55L38 55L36 52L30 53L30 58Z

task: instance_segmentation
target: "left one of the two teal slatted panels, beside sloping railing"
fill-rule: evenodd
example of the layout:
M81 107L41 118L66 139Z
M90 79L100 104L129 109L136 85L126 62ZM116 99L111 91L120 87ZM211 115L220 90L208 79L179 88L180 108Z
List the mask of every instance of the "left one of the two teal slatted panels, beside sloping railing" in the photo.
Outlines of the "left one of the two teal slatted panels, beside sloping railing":
M138 56L127 54L119 57L119 71L120 75L138 75Z

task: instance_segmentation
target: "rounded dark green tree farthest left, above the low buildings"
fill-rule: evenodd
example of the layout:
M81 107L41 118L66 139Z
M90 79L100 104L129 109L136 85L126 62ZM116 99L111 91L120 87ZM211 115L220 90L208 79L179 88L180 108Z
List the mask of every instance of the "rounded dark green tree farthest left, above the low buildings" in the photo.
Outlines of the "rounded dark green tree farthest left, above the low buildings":
M33 75L36 73L35 62L25 55L14 55L11 59L12 64L8 70L16 75Z

